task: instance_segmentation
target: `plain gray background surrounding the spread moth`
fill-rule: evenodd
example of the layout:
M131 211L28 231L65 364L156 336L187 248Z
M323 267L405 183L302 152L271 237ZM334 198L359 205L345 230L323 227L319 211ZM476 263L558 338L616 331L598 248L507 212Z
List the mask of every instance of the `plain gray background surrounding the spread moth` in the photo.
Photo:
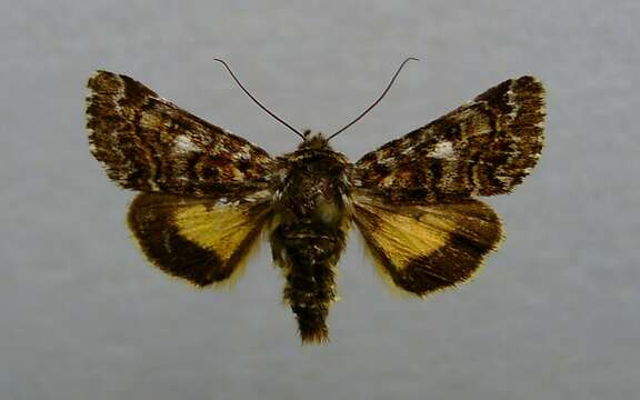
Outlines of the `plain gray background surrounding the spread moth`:
M637 116L629 1L3 1L0 398L636 399ZM84 82L123 72L270 153L298 140L213 57L352 160L500 81L540 77L548 146L491 199L502 249L471 284L390 296L353 234L332 341L301 347L267 247L234 290L197 291L129 239L132 194L89 154Z

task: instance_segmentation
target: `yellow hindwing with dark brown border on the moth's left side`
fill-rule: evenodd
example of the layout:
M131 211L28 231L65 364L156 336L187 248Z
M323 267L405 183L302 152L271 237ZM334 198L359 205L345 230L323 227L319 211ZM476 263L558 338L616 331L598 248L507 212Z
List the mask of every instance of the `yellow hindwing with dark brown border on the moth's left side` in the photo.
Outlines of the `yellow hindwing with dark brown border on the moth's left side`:
M129 228L154 266L203 287L237 276L269 211L266 193L241 201L141 193Z

